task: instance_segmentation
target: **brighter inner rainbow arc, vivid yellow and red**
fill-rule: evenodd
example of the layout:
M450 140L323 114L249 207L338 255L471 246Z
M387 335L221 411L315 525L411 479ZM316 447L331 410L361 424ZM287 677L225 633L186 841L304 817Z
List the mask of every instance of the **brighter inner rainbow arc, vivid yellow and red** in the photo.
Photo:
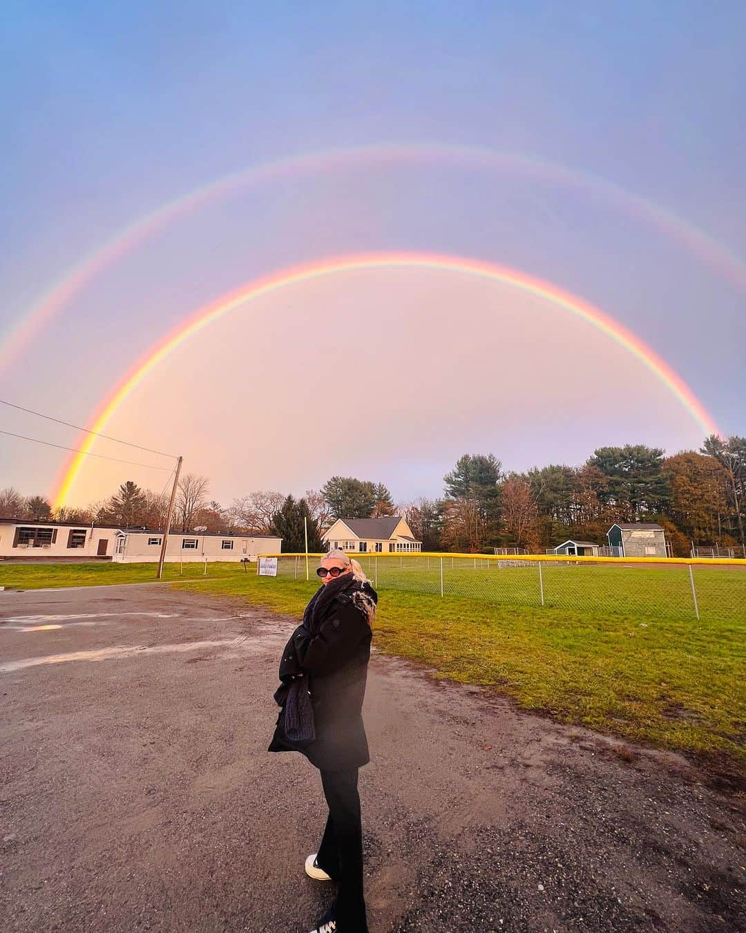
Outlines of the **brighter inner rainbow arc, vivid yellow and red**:
M432 253L371 253L328 258L319 262L283 269L242 285L228 295L223 295L221 298L200 308L199 311L192 314L185 322L173 329L148 350L118 383L112 393L105 398L104 403L90 421L90 431L99 434L103 433L104 427L112 415L162 360L194 337L204 327L208 327L225 314L235 311L249 301L286 288L288 285L309 282L312 279L337 275L340 272L370 269L424 269L460 272L477 278L488 279L492 282L500 282L504 285L513 285L523 292L546 299L564 311L583 319L589 325L610 337L619 346L624 347L656 376L673 397L682 403L705 434L718 433L718 428L714 424L711 415L705 410L688 385L684 383L684 380L670 368L665 360L656 355L654 350L608 314L601 312L587 301L563 291L557 285L534 278L525 272L518 272L518 270L495 265L491 262L458 256L440 256ZM94 443L95 437L91 434L86 435L80 441L80 453L76 453L63 467L61 478L50 495L55 508L60 508L66 501L85 461L86 453L90 451Z

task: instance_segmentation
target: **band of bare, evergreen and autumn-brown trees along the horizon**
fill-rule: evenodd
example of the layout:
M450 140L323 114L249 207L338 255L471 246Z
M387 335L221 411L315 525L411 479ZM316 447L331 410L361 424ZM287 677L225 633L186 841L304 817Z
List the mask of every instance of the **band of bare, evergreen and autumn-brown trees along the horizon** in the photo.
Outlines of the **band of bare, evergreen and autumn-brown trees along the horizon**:
M394 504L381 482L333 476L300 498L260 490L222 507L209 498L209 480L186 474L179 482L173 528L204 526L217 534L277 535L283 550L323 550L321 536L337 518L402 515L422 550L529 551L568 538L602 544L614 522L657 522L673 551L695 545L746 548L746 438L711 435L698 452L666 456L642 444L600 447L582 466L550 464L504 471L493 453L463 454L443 478L439 498ZM114 523L159 528L168 498L128 480L89 508L53 511L43 496L0 491L0 517ZM746 551L744 551L746 552Z

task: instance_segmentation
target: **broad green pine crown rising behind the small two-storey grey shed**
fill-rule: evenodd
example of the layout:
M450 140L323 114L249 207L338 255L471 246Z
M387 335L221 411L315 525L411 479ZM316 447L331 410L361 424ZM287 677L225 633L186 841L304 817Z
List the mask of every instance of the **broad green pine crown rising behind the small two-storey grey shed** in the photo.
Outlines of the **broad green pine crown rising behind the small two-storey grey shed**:
M670 488L660 448L643 444L600 447L587 464L597 466L607 477L603 499L614 506L616 518L633 522L646 512L668 508Z

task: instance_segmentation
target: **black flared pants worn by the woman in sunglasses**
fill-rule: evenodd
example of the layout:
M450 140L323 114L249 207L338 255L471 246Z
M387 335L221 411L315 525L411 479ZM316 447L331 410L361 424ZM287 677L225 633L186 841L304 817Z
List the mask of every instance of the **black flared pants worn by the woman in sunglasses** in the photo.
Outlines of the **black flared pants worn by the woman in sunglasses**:
M316 863L339 884L335 902L339 933L367 933L357 771L321 772L329 815Z

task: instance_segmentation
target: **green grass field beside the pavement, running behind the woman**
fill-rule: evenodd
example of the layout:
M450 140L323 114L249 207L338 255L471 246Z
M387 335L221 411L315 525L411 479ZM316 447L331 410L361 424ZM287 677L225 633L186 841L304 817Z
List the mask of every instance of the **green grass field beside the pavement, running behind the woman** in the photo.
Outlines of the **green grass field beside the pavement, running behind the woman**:
M200 565L187 570L185 564L184 573L197 580L190 589L302 614L315 580L307 583L304 571L294 579L294 568L278 578L258 578L252 569L245 574L237 564L210 564L209 576L202 578ZM546 605L540 606L533 567L454 567L450 584L468 589L471 598L442 599L439 570L434 593L424 592L432 578L404 568L397 577L392 566L379 573L374 644L422 662L436 675L496 689L560 721L705 755L725 770L746 773L742 574L698 568L703 606L695 620L682 586L684 574L689 586L685 567L653 571L669 577L650 576L647 567L612 567L612 576L601 578L599 569L545 568ZM178 566L167 564L167 570L178 585ZM408 578L401 578L405 573ZM153 576L152 564L0 566L0 584L15 587L145 582ZM447 579L444 572L444 585ZM415 585L421 592L394 589ZM478 598L479 588L490 598ZM735 594L728 597L729 618L717 620L708 614L709 601L722 600L730 588ZM501 592L512 605L495 601ZM524 602L517 605L518 598Z

